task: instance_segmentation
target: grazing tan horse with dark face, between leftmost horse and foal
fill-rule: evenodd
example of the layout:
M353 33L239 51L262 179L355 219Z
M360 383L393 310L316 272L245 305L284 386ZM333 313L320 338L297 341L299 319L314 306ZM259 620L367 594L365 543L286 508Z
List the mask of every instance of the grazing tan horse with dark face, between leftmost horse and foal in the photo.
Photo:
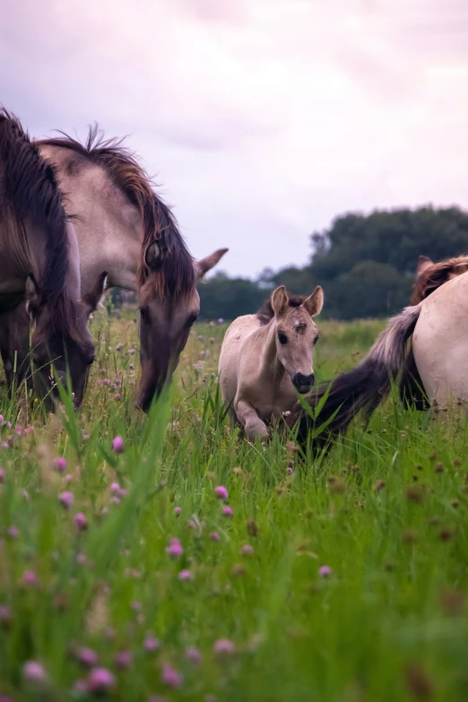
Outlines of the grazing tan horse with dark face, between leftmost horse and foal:
M83 294L107 274L108 287L135 290L140 306L142 379L136 403L147 411L169 382L199 313L196 283L227 248L195 261L177 221L118 140L97 127L84 145L64 135L37 142L75 216Z

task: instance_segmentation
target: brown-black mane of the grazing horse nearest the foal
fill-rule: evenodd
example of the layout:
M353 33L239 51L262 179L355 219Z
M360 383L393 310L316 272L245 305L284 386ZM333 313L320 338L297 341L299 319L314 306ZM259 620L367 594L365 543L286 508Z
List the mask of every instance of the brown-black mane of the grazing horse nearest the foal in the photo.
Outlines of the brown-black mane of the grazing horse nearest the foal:
M60 132L61 136L43 139L39 145L56 146L80 154L104 169L112 182L138 208L143 222L143 245L137 271L138 287L150 281L148 296L165 299L188 295L195 287L192 256L178 230L178 222L169 206L154 192L152 179L143 169L124 139L106 139L100 127L91 126L85 143ZM164 238L160 267L150 271L144 263L146 248Z

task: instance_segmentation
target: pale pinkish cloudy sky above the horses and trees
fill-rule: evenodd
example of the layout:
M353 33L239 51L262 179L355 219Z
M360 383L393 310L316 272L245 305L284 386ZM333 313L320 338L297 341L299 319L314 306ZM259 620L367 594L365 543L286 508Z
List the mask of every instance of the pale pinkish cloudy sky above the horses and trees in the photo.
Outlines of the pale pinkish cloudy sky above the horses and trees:
M232 274L340 212L467 204L466 0L3 0L0 65L31 134L128 134Z

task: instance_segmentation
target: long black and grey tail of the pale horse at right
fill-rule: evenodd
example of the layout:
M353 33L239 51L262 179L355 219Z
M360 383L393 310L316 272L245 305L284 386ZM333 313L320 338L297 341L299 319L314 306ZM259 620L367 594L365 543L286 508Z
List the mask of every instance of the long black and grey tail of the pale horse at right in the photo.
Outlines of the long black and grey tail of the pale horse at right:
M317 388L316 394L308 398L312 409L320 400L323 406L314 420L301 406L297 406L289 417L290 426L299 421L299 441L304 442L313 427L318 436L336 435L345 431L358 412L367 417L386 398L394 378L403 367L406 342L412 335L420 316L420 305L404 308L403 312L390 319L386 330L377 338L368 355L357 368L336 377L332 383ZM323 431L320 427L324 426Z

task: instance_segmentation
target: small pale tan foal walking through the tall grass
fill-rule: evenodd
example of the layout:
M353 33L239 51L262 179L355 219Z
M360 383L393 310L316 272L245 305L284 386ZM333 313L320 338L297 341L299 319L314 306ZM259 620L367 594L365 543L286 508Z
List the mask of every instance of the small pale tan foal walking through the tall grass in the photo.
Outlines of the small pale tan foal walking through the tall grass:
M239 316L224 336L220 386L232 423L247 437L268 436L266 422L289 411L297 395L314 385L312 362L318 339L312 317L324 305L322 288L308 298L274 290L256 315Z

